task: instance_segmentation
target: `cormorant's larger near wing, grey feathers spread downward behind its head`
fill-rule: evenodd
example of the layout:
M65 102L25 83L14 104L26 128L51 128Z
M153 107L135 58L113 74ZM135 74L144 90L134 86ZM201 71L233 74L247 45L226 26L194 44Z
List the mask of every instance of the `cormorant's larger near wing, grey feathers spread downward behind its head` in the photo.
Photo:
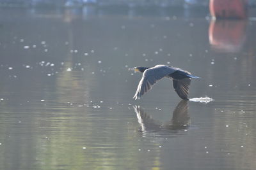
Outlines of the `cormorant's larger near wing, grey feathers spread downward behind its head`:
M172 67L157 65L152 68L146 69L143 73L143 76L140 80L136 93L134 95L134 99L140 99L140 97L148 92L148 90L152 89L152 86L156 84L157 81L164 78L168 74L172 74L175 69Z

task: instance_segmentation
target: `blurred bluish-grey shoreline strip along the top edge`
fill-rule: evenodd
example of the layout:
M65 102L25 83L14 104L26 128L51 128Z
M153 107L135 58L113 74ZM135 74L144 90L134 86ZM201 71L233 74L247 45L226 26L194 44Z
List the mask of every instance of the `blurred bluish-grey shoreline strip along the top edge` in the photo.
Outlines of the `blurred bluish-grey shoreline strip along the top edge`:
M74 8L74 7L84 7L84 6L97 6L107 7L107 6L123 6L126 8L170 8L177 7L180 8L193 8L193 7L208 7L209 1L207 0L1 0L0 7L10 7L10 8ZM250 8L256 7L256 1L248 1L248 6Z

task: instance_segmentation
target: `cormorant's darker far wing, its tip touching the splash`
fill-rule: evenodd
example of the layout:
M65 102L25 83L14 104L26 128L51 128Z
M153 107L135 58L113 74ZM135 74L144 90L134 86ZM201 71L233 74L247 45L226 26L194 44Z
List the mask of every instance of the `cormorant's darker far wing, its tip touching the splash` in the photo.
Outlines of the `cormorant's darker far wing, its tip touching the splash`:
M191 78L183 78L181 80L173 80L173 87L175 92L179 95L181 99L189 100L188 99L188 89L191 82Z

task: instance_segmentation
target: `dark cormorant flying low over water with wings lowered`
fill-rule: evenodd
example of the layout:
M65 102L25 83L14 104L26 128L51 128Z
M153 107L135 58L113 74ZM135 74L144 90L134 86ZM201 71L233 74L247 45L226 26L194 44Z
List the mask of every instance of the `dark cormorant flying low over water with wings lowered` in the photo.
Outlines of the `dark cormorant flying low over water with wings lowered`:
M193 76L188 71L183 69L166 66L166 65L156 65L154 67L134 67L130 70L138 71L143 73L140 80L134 99L140 99L140 97L152 89L153 85L162 78L169 78L173 80L173 88L177 92L178 96L183 100L188 99L188 89L191 82L191 78L200 78L198 76Z

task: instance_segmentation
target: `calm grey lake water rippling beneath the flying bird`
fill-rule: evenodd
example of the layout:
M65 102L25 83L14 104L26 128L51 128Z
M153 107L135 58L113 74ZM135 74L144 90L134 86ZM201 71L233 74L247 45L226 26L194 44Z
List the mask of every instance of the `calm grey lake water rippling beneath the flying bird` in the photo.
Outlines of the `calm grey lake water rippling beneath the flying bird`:
M0 169L255 169L256 22L205 10L0 10ZM141 74L201 79L181 101Z

